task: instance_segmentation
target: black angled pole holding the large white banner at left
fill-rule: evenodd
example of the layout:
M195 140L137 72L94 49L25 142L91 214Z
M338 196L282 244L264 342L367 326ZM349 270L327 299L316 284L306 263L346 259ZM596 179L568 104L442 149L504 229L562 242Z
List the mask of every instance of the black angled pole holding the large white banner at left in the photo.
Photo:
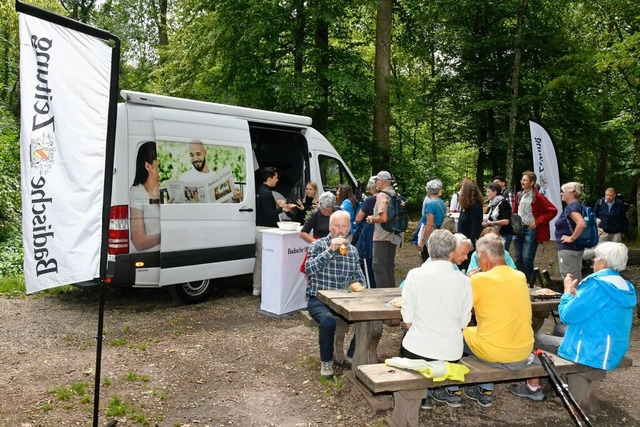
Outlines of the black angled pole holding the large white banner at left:
M113 34L92 27L79 21L58 15L37 6L21 3L16 0L16 12L31 15L35 18L51 22L62 27L78 31L101 40L104 40L111 47L111 75L109 87L109 108L107 118L107 135L106 135L106 151L105 151L105 169L104 169L104 186L103 186L103 203L102 203L102 244L100 247L100 277L96 279L100 285L100 297L98 302L98 333L96 336L96 369L95 369L95 387L93 399L93 427L98 426L98 418L100 412L100 375L102 366L102 341L104 335L104 305L105 305L105 287L109 283L107 277L107 247L109 239L109 213L111 209L111 190L113 178L113 164L115 151L116 136L116 115L118 102L118 85L120 70L120 39ZM116 421L108 424L109 427L115 426Z

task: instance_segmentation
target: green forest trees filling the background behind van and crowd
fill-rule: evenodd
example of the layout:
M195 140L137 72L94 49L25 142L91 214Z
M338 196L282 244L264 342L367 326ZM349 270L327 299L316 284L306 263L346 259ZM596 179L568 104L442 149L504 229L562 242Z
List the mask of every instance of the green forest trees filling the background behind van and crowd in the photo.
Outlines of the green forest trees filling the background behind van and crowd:
M122 42L120 87L302 114L360 181L424 184L532 168L528 120L561 182L637 206L637 0L34 0ZM0 276L20 275L18 17L0 0ZM631 238L637 236L637 210Z

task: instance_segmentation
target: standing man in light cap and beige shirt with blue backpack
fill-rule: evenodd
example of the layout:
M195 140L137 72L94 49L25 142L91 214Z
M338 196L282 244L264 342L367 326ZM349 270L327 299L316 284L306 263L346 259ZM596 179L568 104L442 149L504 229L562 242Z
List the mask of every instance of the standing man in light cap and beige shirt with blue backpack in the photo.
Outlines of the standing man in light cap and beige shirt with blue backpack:
M396 191L391 186L393 177L387 171L380 171L376 175L376 205L373 215L367 216L367 222L374 224L373 230L373 274L376 286L379 288L393 288L396 286L395 258L396 248L402 243L402 235L394 234L382 228L387 222L387 211L391 197Z

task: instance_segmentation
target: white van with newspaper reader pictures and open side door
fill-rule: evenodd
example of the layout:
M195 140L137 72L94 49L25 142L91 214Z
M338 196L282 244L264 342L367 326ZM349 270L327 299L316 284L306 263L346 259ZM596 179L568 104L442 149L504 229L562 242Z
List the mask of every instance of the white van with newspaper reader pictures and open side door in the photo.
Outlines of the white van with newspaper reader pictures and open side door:
M309 117L121 94L107 263L114 285L172 285L174 296L196 303L209 296L211 279L252 273L260 167L278 169L274 190L292 202L307 181L319 192L356 188ZM157 164L137 167L148 148Z

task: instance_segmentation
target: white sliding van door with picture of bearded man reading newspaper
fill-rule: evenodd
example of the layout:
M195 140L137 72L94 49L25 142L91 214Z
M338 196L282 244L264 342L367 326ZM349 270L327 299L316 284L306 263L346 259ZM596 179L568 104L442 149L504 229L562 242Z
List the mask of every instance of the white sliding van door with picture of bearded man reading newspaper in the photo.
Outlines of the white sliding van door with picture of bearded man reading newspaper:
M153 108L160 169L160 285L248 274L255 182L245 120Z

